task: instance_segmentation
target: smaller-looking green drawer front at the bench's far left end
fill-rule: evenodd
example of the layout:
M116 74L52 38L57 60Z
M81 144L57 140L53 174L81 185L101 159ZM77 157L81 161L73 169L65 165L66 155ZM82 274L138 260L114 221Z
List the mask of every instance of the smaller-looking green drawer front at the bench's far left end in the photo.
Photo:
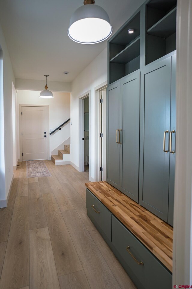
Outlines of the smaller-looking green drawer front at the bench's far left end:
M86 189L86 208L89 218L97 229L101 229L111 241L112 213L88 189ZM99 213L96 213L96 211Z

